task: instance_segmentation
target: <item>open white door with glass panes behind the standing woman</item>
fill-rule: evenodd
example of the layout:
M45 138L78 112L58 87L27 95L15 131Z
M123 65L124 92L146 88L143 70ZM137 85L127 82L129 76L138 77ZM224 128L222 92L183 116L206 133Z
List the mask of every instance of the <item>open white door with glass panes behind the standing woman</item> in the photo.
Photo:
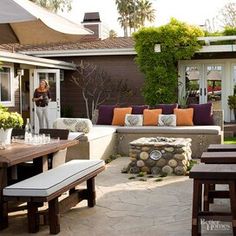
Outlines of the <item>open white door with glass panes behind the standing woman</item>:
M51 102L48 104L49 128L52 128L54 120L60 117L60 70L36 69L34 70L33 91L39 86L41 80L47 80L50 86ZM34 132L39 131L35 103L32 109Z

